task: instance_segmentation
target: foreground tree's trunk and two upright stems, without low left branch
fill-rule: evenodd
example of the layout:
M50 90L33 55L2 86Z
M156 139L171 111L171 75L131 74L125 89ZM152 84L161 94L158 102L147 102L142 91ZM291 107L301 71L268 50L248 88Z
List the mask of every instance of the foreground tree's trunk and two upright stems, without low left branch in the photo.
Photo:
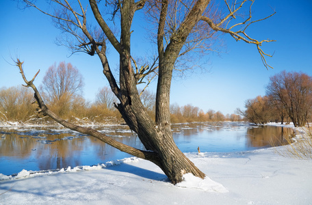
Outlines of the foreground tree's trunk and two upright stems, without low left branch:
M140 100L137 90L137 82L131 66L130 36L131 21L133 18L133 2L124 1L122 3L121 14L121 35L120 35L120 100L117 108L122 114L129 127L138 133L146 150L153 151L158 161L153 159L172 181L176 184L183 180L182 176L192 173L194 176L204 178L205 174L190 161L177 148L172 138L170 127L170 85L172 80L172 70L181 48L198 20L207 7L209 0L198 0L187 16L185 22L180 27L179 35L166 47L163 46L164 25L159 27L159 70L156 96L156 119L149 118ZM166 15L168 8L164 2L162 13ZM164 18L160 17L160 22L164 23ZM159 23L162 25L161 23Z

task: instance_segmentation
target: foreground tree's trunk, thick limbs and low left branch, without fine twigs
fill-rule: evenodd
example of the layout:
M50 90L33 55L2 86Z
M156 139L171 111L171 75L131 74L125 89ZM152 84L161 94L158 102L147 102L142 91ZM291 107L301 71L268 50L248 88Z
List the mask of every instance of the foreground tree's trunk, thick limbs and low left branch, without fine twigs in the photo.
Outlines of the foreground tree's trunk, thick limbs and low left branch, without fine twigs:
M156 102L156 119L152 120L146 113L144 106L140 100L140 96L137 90L137 79L135 79L134 70L131 65L131 52L130 52L130 42L131 42L131 23L133 20L133 15L136 10L140 10L144 5L145 1L135 2L134 0L127 1L117 1L118 10L120 11L120 41L116 39L112 31L109 29L105 20L103 20L99 8L97 7L97 2L95 0L89 0L94 17L99 23L101 29L103 29L105 36L108 38L109 42L112 43L116 51L120 55L120 72L119 72L119 85L114 79L109 64L106 58L106 46L105 40L99 45L92 35L88 32L86 28L86 16L83 15L83 26L81 30L90 40L93 48L101 59L103 65L103 73L112 91L120 100L120 103L116 105L117 109L120 111L125 122L129 125L132 131L138 134L138 137L142 141L147 152L144 150L138 150L131 148L125 144L122 144L114 139L99 133L92 128L83 128L70 122L66 122L62 118L59 118L53 112L44 105L42 98L36 86L33 84L35 79L27 81L25 75L23 74L22 64L23 62L17 61L16 64L20 68L23 75L25 83L28 87L32 87L35 92L35 98L40 107L39 111L42 111L45 115L49 115L55 121L66 126L67 128L79 131L81 133L86 133L92 135L101 141L121 150L122 152L127 152L134 156L138 156L142 159L152 161L158 165L166 176L176 184L183 180L182 176L186 173L192 173L194 176L204 178L205 174L200 172L200 170L192 163L187 157L177 148L172 138L172 132L170 127L170 83L172 79L172 69L174 67L174 62L176 61L181 48L189 35L190 31L198 23L203 14L205 8L210 0L198 0L196 1L194 7L189 14L185 17L184 22L181 24L177 35L170 40L170 44L164 49L164 21L166 19L166 10L168 9L168 1L161 2L164 7L161 11L161 16L159 23L159 38L157 37L157 43L159 45L159 76L157 84L157 102ZM116 10L117 11L117 10ZM73 11L72 11L73 12ZM75 12L73 13L77 15ZM77 17L77 16L76 16ZM161 45L161 46L160 46ZM38 74L38 73L37 73ZM36 74L36 75L37 75Z

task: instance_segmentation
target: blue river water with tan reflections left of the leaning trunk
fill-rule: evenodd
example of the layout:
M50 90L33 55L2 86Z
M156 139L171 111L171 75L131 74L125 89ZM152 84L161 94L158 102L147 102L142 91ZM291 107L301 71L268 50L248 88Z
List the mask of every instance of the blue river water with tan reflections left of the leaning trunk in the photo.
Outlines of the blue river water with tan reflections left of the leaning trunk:
M126 126L105 126L107 136L142 149L142 144ZM96 165L129 157L103 141L60 128L1 128L0 173L61 169L77 165Z

